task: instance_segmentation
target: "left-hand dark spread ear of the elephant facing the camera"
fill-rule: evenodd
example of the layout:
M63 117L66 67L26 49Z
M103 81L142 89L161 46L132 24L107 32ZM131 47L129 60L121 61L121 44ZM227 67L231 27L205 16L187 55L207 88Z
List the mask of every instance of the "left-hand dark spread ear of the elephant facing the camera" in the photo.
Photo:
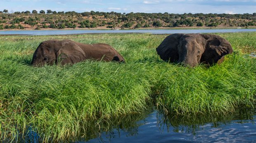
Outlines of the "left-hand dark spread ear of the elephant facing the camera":
M167 36L164 41L156 48L157 54L164 61L176 62L179 59L178 45L180 38L184 34L176 33Z

